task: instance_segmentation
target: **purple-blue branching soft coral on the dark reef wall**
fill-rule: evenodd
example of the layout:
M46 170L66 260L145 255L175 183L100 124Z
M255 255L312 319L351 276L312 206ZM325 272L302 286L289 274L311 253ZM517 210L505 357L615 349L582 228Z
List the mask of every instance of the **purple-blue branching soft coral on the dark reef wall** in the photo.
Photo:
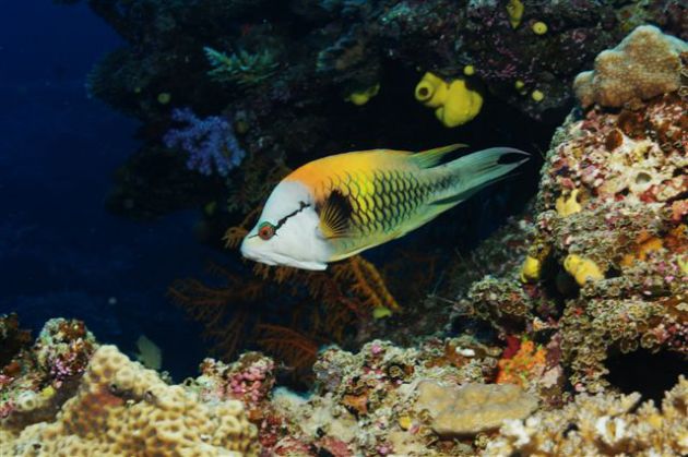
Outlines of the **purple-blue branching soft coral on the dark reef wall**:
M190 170L210 176L214 166L220 176L226 177L246 156L225 118L200 119L190 108L182 108L173 110L173 120L186 127L169 130L163 141L167 147L179 147L189 155L187 168Z

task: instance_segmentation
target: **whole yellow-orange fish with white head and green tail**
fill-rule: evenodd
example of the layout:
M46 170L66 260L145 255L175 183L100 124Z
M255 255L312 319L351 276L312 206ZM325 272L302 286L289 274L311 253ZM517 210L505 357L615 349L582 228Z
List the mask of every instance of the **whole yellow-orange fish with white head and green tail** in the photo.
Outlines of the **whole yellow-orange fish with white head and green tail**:
M371 149L303 165L273 189L241 241L241 254L268 265L323 270L429 223L530 157L491 147L444 161L461 147Z

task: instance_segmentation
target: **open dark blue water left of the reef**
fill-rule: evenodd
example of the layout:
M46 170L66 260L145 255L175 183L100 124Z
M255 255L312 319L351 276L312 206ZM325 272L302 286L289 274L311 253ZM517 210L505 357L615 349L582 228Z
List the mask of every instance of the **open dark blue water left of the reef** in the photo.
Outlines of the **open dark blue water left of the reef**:
M137 124L88 99L84 81L118 45L85 5L2 1L0 313L17 312L36 332L50 317L78 317L123 350L145 334L179 377L204 349L166 289L212 254L193 240L194 214L144 225L105 211Z

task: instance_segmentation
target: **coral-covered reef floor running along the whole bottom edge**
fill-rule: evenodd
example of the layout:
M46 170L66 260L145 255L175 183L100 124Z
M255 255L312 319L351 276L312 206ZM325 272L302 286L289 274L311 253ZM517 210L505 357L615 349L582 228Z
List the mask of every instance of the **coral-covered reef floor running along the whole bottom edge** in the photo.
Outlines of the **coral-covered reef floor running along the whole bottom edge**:
M502 358L537 357L539 349L527 342ZM116 347L100 346L56 413L0 423L0 454L686 453L685 377L661 409L639 405L639 394L581 394L535 412L536 395L491 383L505 370L500 352L466 335L428 338L413 348L373 340L357 353L330 347L318 354L313 390L301 396L275 389L275 364L258 352L230 364L206 359L199 377L169 385Z

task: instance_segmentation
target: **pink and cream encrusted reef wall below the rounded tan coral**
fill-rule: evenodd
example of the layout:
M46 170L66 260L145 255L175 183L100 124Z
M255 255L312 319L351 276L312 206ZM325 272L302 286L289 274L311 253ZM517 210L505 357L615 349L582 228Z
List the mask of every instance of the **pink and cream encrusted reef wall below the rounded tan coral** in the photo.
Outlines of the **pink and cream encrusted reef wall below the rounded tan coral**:
M581 287L560 322L564 357L580 388L598 392L605 385L610 351L687 350L688 273L680 264L688 251L680 213L688 190L681 171L686 108L685 100L667 95L640 112L593 109L562 128L559 134L569 140L549 155L531 256L549 257L543 263L558 258ZM633 127L637 120L642 130ZM577 211L557 211L557 195L572 192ZM559 290L571 290L560 273L554 280Z

